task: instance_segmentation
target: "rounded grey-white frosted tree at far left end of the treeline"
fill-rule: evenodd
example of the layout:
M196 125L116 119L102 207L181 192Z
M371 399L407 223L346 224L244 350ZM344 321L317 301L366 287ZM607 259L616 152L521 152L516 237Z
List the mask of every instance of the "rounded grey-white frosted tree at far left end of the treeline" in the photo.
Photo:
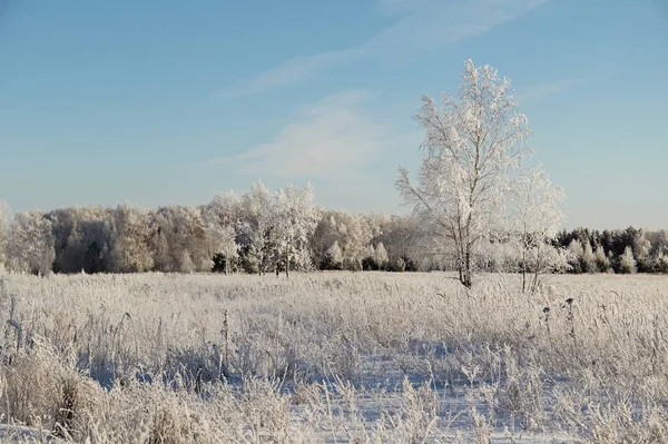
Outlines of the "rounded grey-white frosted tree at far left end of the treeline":
M7 243L7 268L49 275L56 258L51 228L51 221L41 211L17 213Z

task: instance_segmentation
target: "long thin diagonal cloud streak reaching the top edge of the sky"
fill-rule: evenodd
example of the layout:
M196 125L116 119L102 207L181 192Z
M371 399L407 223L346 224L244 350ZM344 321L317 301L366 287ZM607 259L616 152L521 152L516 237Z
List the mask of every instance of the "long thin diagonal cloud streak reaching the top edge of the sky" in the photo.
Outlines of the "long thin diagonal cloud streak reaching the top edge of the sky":
M397 58L442 48L456 40L489 32L547 0L379 0L379 11L397 16L394 24L358 46L296 57L216 96L254 95L299 81L338 66L367 58Z

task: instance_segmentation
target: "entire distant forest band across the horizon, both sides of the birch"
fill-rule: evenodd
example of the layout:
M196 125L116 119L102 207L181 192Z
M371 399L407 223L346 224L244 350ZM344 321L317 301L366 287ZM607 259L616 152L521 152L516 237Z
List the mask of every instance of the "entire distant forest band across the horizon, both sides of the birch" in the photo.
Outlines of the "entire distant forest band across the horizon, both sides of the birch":
M0 269L18 273L456 269L449 248L434 248L413 216L323 210L308 184L269 193L259 182L244 196L218 194L194 207L124 204L13 217L2 208ZM487 240L478 270L521 269L511 243ZM551 241L566 260L558 273L668 273L668 230L577 228Z

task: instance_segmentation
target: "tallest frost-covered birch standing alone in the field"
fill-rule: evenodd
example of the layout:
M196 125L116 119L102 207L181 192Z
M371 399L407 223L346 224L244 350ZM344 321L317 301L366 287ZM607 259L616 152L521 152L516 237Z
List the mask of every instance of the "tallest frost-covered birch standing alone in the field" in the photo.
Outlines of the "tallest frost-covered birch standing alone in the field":
M528 154L527 117L507 78L469 60L459 101L444 95L439 107L425 96L416 119L425 131L419 185L400 168L396 188L438 245L452 248L459 280L470 287L479 244L498 229L509 177Z

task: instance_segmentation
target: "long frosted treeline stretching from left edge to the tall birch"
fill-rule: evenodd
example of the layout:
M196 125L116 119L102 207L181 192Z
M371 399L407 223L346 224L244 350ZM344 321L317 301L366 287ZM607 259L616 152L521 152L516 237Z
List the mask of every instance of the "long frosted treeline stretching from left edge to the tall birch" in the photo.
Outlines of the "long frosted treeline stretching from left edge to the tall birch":
M410 218L324 211L310 184L271 193L258 182L246 195L222 193L193 207L122 204L8 216L0 207L0 269L14 273L418 269Z

